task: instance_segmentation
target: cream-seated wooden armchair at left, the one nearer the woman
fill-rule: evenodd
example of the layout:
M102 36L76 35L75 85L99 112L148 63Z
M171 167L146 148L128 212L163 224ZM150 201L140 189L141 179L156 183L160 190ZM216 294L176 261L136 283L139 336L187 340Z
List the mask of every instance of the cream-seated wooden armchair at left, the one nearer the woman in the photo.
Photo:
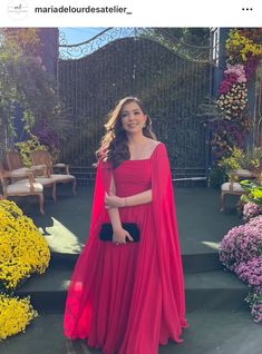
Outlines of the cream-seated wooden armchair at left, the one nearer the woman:
M50 154L48 151L42 151L42 150L31 153L31 160L32 160L35 167L37 167L39 165L40 166L45 165L47 167L45 177L51 178L56 184L71 183L72 194L76 195L76 177L70 175L69 165L52 164ZM55 168L64 169L65 173L64 174L56 174L54 171Z

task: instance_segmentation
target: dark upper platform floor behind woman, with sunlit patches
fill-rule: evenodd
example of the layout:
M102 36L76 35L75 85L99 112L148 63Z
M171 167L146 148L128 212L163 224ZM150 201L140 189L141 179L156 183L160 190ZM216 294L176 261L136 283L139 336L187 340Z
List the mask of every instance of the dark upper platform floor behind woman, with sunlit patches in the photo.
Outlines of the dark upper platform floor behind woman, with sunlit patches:
M175 188L181 250L185 272L221 269L217 247L223 236L242 223L235 213L235 200L226 200L220 212L220 191L213 188ZM48 190L50 191L50 190ZM94 186L78 186L71 196L70 186L58 187L58 201L46 199L45 216L39 215L36 200L22 199L25 213L45 234L52 258L66 264L76 262L85 246L90 227ZM233 196L232 196L233 197Z

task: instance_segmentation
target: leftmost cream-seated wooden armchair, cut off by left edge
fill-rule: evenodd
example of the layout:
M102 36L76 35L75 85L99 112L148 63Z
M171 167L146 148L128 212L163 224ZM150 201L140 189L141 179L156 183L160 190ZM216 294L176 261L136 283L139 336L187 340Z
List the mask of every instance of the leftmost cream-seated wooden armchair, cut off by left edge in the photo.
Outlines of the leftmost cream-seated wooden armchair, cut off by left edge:
M12 178L21 178L23 179L10 183ZM25 171L23 174L19 171L10 173L3 169L2 164L0 163L0 180L2 186L3 198L8 199L8 197L27 197L27 196L38 196L39 198L39 208L40 213L43 215L43 187L41 184L35 181L33 174L30 171Z

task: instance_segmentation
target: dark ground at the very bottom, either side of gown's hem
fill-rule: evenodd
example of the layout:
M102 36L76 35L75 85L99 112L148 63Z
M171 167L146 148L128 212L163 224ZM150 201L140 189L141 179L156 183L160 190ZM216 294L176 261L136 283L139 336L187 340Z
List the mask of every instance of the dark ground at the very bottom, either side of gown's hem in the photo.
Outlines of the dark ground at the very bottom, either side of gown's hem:
M195 311L187 313L190 327L182 344L159 346L159 354L261 354L261 325L248 312ZM64 336L62 314L40 314L27 328L0 344L3 354L101 354L86 341ZM148 353L145 353L148 354Z

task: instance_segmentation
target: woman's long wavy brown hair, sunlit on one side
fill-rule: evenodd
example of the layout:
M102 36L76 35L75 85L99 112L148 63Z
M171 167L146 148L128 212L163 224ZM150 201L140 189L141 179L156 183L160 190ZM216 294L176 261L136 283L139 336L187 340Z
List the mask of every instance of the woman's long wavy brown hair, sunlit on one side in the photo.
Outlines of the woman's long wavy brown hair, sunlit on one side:
M105 125L106 134L101 138L101 145L97 151L98 158L104 161L110 161L114 168L130 158L126 131L122 126L123 107L130 102L136 102L143 114L146 115L144 105L137 97L128 96L119 100L115 108L108 114L108 121ZM152 120L148 115L145 127L143 128L143 134L145 137L156 140L156 136L152 130Z

